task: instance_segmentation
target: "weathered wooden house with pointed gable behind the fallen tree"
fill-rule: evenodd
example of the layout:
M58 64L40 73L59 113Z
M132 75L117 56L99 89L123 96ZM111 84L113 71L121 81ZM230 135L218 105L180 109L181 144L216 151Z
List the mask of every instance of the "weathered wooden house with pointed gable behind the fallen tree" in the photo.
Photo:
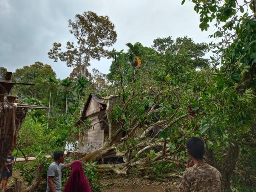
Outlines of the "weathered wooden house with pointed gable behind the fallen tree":
M79 136L79 141L83 144L78 148L79 153L90 154L91 152L99 149L106 138L108 138L109 126L106 108L107 103L102 102L96 94L89 95L80 120L84 121L85 119L89 119L92 122L92 127L83 135ZM82 122L78 121L76 126L78 125L82 126ZM112 128L118 128L118 124L112 123ZM121 137L122 134L117 138L117 142Z

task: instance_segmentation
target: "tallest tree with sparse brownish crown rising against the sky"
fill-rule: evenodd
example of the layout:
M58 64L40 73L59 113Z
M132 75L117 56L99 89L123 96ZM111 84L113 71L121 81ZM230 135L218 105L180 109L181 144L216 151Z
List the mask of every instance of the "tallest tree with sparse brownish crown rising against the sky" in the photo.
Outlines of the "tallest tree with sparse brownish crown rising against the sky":
M75 20L68 20L70 33L77 42L67 42L67 50L60 52L60 43L54 43L48 52L49 58L57 62L58 59L66 62L68 67L78 67L81 76L86 76L90 59L100 60L106 56L105 46L110 47L116 42L114 24L108 16L98 16L88 11L82 15L77 14Z

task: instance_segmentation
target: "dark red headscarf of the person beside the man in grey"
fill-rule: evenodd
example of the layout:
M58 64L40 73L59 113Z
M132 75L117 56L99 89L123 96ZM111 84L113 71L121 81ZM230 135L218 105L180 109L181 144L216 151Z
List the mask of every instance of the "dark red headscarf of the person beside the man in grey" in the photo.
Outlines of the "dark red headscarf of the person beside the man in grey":
M82 162L74 161L72 171L65 185L64 192L92 192L84 174Z

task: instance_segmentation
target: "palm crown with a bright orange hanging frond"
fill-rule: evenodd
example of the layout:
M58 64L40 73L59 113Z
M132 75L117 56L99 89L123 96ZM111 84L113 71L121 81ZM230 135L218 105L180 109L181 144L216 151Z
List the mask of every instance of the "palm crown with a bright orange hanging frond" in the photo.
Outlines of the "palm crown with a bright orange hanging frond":
M126 46L129 47L127 59L131 62L132 68L139 68L141 64L140 56L143 54L140 52L142 44L136 42L134 45L131 43L126 43Z

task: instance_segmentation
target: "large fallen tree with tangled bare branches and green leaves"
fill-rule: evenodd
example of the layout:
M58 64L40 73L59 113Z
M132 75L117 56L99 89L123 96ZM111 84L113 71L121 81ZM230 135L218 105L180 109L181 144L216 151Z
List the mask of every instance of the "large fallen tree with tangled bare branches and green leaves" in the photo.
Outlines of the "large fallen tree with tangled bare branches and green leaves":
M154 65L155 60L145 68L142 62L141 68L126 69L124 76L120 62L125 60L123 53L113 50L110 56L118 76L114 89L109 91L118 99L112 100L113 95L104 98L112 106L107 112L110 135L100 149L82 160L97 161L116 154L124 163L102 165L100 169L128 175L132 168L166 159L182 163L186 138L204 135L207 160L220 170L224 187L230 190L230 177L239 154L235 141L248 133L255 114L254 92L250 89L255 65L241 74L238 83L228 76L227 65L220 70L213 66L200 72L190 69L171 73L159 80L156 73L162 68ZM144 60L148 58L145 56ZM118 122L118 130L112 128L112 121ZM126 136L116 143L124 131Z

